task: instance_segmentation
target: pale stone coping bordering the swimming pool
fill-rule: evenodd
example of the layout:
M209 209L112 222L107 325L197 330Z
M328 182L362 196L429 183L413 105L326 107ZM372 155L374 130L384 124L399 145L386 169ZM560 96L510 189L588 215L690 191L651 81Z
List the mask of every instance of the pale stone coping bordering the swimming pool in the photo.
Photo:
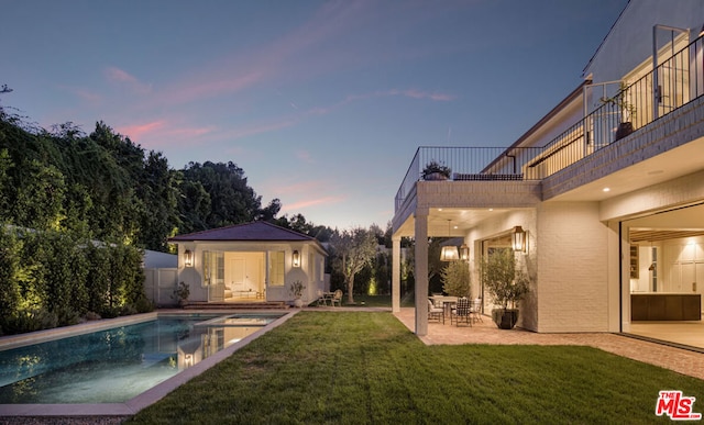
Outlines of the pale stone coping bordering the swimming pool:
M188 382L190 379L199 376L206 370L210 369L218 362L222 361L224 358L231 356L233 353L239 350L240 348L246 346L252 340L258 338L260 336L266 334L267 332L278 327L290 317L296 315L300 310L257 310L256 313L284 313L284 316L275 320L268 325L264 326L261 331L252 335L248 335L241 340L232 344L231 346L213 354L212 356L201 360L197 365L179 372L178 374L165 380L164 382L158 383L155 387L146 390L145 392L134 396L133 399L128 400L124 403L95 403L95 404L0 404L0 417L2 416L131 416L141 411L142 409L156 403L161 399L163 399L166 394L174 391L176 388L182 384ZM153 320L158 316L160 313L168 314L168 313L184 313L183 310L163 310L160 312L145 313L145 314L135 314L133 316L124 316L110 318L106 321L97 321L90 323L84 323L76 328L75 326L67 326L66 328L57 328L57 329L48 329L48 331L40 331L38 333L25 334L20 336L9 336L9 337L0 337L0 345L3 345L2 349L7 349L4 347L4 342L9 342L9 345L12 345L10 348L19 347L21 345L33 344L44 340L51 340L61 338L66 335L76 335L74 332L79 333L89 333L95 331L100 331L103 328L110 328L116 326L121 326L124 324L135 324L141 322L146 322ZM251 310L188 310L188 313L252 313ZM68 329L73 328L73 329ZM74 331L74 332L72 332ZM36 338L36 339L33 339Z

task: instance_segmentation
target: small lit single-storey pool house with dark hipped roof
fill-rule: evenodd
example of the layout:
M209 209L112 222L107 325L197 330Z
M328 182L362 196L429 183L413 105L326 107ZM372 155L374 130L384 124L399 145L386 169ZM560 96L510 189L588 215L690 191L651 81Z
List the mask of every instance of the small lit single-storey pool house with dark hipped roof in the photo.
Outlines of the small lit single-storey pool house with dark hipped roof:
M252 222L177 235L178 282L189 286L189 302L292 303L292 283L306 288L305 303L324 289L320 243L266 222Z

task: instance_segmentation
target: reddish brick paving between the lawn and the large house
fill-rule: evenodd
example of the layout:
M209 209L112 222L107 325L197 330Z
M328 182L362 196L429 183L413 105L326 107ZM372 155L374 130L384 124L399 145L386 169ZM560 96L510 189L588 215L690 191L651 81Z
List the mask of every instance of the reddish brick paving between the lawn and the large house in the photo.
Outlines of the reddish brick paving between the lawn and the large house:
M395 316L411 332L416 329L414 309L402 309ZM450 325L450 322L428 323L428 335L420 339L433 344L521 344L521 345L586 345L604 351L660 366L675 372L704 380L704 354L608 333L538 334L518 328L504 331L491 317L472 327Z

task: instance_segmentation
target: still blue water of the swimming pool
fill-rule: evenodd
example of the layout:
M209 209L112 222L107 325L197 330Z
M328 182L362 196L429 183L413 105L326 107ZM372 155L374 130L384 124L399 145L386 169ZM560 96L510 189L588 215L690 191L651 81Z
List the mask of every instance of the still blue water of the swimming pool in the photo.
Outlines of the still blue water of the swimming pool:
M165 316L0 351L0 404L123 403L280 316Z

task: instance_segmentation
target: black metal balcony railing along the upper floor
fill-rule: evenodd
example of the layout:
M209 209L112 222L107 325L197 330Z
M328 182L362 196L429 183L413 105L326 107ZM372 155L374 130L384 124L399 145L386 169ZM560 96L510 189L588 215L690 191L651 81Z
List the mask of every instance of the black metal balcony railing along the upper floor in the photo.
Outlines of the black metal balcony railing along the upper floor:
M451 180L542 180L704 94L703 68L698 37L654 71L601 98L597 108L542 147L421 146L396 193L396 210L433 160L452 170Z

